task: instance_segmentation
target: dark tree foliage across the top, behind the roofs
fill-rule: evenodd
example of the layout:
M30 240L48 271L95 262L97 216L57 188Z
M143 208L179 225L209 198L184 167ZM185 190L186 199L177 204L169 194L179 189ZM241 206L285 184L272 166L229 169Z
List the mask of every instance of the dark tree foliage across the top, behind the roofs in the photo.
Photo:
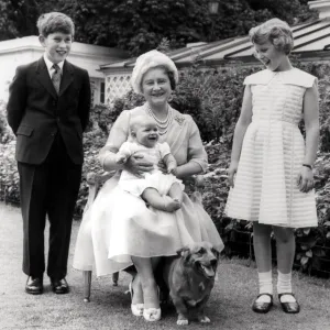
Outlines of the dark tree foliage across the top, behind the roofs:
M307 0L221 0L211 15L207 0L0 0L0 40L36 34L43 12L62 11L76 23L79 42L139 55L163 38L170 48L244 35L274 16L289 24L316 18Z

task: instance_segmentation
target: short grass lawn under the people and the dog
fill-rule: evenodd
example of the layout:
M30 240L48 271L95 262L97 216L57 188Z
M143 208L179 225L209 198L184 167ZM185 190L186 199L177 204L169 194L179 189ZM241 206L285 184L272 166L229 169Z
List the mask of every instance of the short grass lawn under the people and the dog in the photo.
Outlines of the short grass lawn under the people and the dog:
M156 323L146 323L130 312L130 296L124 292L130 280L120 274L119 286L111 278L92 278L91 301L82 301L80 272L72 268L72 256L79 222L74 222L68 283L72 292L56 296L45 278L45 293L31 296L24 293L25 275L22 262L22 220L20 209L0 202L0 329L178 329L176 315L170 308L163 311ZM296 295L301 312L286 315L277 299L267 315L251 310L256 294L255 266L244 260L222 260L218 279L207 306L210 324L193 322L187 329L221 330L330 330L330 280L294 274ZM274 273L276 276L276 273ZM184 327L185 328L185 327Z

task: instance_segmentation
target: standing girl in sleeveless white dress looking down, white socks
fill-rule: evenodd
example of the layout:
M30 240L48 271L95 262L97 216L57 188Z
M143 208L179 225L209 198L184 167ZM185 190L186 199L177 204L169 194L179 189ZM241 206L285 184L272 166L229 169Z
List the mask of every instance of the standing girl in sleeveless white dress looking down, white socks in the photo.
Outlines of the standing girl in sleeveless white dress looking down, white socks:
M288 58L293 34L286 22L270 20L250 31L266 69L245 78L228 170L229 217L253 221L260 295L252 309L273 305L271 233L276 239L277 294L285 312L299 312L292 290L295 228L318 224L312 165L319 140L317 78ZM306 143L298 129L304 119Z

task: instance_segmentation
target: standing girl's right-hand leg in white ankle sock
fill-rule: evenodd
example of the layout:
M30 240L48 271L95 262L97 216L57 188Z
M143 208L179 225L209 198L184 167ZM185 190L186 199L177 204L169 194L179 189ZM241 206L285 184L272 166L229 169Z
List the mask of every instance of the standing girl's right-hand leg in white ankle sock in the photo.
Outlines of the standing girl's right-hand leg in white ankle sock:
M276 253L277 253L277 294L290 294L292 288L292 270L295 260L295 234L292 228L274 227L274 234L276 238ZM296 299L292 295L283 295L282 302L295 302Z

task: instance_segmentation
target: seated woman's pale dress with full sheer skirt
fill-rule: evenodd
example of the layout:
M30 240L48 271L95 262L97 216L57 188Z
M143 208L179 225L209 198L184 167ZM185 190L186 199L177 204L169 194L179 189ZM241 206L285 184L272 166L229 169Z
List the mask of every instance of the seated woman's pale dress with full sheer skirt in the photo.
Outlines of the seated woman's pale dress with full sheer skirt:
M207 154L193 118L172 109L174 120L160 142L167 142L178 166L195 163L207 168ZM112 148L119 150L129 138L130 120L147 114L146 106L124 110L111 128L100 152L103 163ZM142 257L176 255L177 250L193 242L208 241L219 252L223 242L215 223L205 211L201 195L189 198L184 193L182 208L175 212L147 208L141 197L119 186L120 173L100 189L84 213L73 266L81 271L95 268L98 276L132 265L131 255Z

